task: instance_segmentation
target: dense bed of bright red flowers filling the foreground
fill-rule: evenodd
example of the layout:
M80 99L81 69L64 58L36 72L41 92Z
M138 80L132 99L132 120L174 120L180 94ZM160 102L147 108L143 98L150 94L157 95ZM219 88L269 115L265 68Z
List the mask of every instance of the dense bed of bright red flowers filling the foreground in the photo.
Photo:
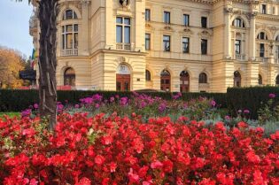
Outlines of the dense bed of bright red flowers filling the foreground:
M180 119L183 120L183 119ZM115 115L0 120L4 184L279 184L279 132ZM1 182L0 182L1 183Z

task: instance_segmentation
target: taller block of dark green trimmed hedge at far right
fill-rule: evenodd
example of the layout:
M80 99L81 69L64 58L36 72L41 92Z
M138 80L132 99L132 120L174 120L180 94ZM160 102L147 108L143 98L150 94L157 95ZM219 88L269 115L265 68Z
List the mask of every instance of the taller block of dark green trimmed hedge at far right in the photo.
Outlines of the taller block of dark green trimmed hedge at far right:
M249 110L252 119L258 119L258 111L267 104L269 94L275 94L275 102L279 101L279 88L272 86L251 88L229 88L227 90L228 108L236 116L238 110Z

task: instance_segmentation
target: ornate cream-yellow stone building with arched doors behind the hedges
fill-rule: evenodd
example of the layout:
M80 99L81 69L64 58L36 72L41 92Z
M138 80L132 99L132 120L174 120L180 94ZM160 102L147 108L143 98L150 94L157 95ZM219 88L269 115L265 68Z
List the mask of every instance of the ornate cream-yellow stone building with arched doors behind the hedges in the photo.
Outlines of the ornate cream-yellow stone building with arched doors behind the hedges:
M278 0L59 4L58 86L226 92L279 84ZM38 50L35 15L30 34Z

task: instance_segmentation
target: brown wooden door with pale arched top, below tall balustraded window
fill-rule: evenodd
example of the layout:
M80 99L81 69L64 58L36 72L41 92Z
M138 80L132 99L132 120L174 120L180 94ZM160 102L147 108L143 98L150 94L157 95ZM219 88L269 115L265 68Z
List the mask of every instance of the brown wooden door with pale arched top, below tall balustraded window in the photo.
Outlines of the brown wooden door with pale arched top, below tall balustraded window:
M116 71L116 90L128 91L131 86L131 73L128 66L121 64Z

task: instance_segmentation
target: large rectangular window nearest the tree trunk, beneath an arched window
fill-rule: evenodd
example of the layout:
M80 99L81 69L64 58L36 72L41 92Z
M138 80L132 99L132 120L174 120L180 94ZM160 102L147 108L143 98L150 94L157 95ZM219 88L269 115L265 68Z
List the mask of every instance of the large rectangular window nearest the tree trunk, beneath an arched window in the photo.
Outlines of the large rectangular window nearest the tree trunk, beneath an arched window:
M62 49L77 49L78 48L78 34L79 26L77 24L74 25L66 25L62 26Z

